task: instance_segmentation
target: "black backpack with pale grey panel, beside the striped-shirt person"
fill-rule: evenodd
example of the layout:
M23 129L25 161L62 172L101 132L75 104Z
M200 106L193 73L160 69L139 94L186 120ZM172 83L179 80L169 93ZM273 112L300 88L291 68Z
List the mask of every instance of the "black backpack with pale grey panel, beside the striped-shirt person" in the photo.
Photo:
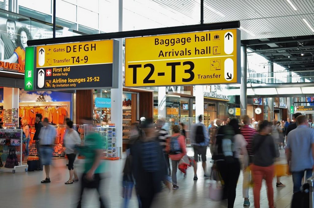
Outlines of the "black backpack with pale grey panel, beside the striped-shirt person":
M226 162L233 162L235 155L235 132L231 126L221 126L218 128L216 135L216 152L214 153L214 160L225 160Z

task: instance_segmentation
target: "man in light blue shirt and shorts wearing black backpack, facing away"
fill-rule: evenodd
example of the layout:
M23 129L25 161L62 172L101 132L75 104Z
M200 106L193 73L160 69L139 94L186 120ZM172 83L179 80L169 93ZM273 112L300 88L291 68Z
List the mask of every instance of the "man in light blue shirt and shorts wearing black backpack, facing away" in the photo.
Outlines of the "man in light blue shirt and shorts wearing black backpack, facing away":
M195 124L191 131L191 142L194 148L194 159L198 162L198 155L202 157L202 166L204 170L204 177L208 177L206 174L206 151L208 146L208 134L205 125L202 123L203 116L198 117L198 123ZM198 177L194 174L193 180L197 180Z

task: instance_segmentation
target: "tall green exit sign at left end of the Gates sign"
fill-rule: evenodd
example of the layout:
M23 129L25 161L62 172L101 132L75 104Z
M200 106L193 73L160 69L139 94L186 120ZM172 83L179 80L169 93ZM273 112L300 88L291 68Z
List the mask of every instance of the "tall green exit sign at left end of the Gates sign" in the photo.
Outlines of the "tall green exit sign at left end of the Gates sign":
M24 75L24 90L32 91L34 87L34 60L35 47L26 47L25 49L25 75Z

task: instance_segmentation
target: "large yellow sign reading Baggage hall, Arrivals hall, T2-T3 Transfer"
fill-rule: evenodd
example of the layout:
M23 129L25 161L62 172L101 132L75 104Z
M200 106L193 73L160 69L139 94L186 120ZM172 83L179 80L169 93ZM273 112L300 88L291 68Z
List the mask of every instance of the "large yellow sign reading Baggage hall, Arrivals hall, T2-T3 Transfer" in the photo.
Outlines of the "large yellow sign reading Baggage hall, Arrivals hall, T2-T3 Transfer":
M240 82L240 30L125 40L125 86Z

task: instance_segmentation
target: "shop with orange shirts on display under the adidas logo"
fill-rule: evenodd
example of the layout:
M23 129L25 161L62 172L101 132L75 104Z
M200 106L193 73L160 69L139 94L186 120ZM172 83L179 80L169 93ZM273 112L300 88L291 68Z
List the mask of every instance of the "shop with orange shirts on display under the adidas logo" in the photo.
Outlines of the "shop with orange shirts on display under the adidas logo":
M40 113L43 118L57 128L54 156L63 157L63 137L66 131L65 118L72 118L73 93L38 91L28 92L19 88L0 87L0 124L3 128L19 128L23 125L30 127L29 155L36 155L35 117ZM0 147L2 159L6 159L7 152ZM2 151L1 151L2 150Z

